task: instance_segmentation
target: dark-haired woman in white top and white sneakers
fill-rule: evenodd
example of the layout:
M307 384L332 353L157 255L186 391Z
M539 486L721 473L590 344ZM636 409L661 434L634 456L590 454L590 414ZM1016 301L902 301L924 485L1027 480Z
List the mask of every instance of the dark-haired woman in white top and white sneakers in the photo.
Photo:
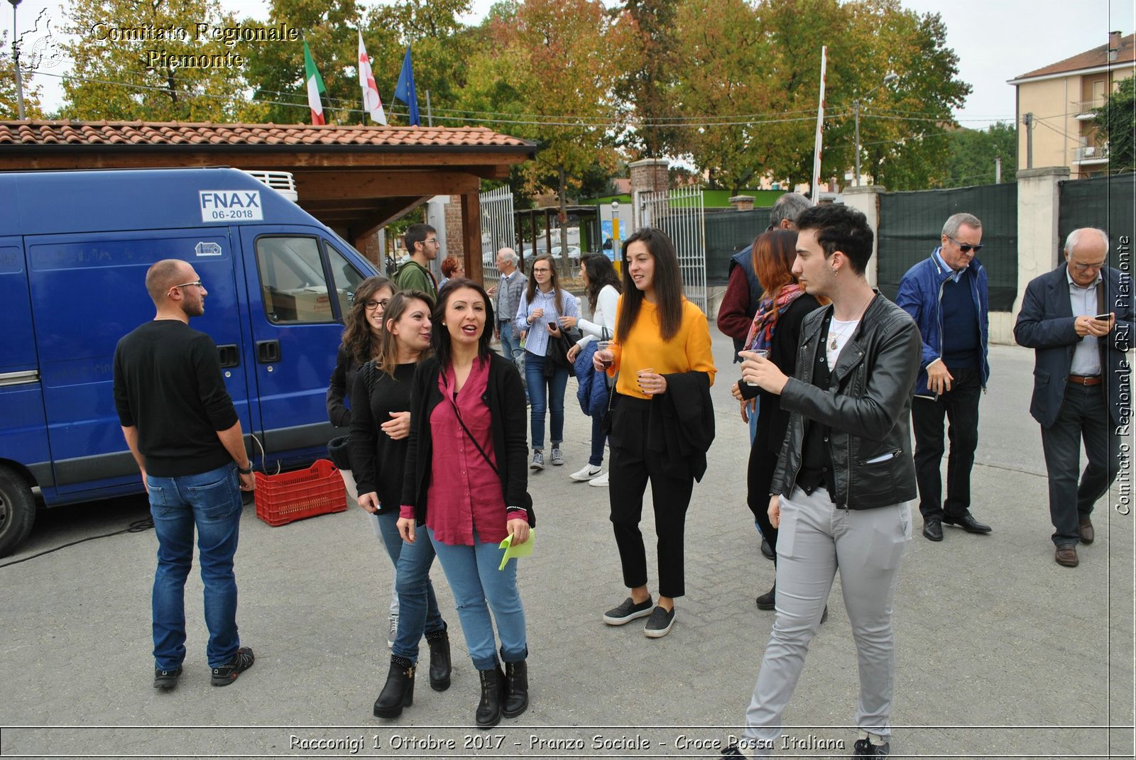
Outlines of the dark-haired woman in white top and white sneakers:
M580 350L593 340L610 341L616 334L616 308L619 304L620 286L619 275L616 274L611 260L602 253L585 256L579 264L579 277L584 281L592 319L560 317L562 327L578 327L584 334L568 351L568 361L575 361ZM603 471L603 444L607 441L603 418L592 417L592 456L588 457L586 465L568 477L574 481L587 481L588 485L596 487L607 486L608 474Z

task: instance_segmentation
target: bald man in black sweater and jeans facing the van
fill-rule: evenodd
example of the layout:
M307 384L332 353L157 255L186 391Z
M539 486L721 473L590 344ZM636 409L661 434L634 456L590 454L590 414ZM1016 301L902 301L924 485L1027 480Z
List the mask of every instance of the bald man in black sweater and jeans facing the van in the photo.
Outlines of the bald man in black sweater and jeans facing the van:
M217 346L190 328L208 295L193 267L158 261L145 287L152 321L115 349L115 408L126 445L150 496L158 570L153 579L154 688L177 685L185 659L185 579L193 563L193 529L201 550L207 655L212 685L248 670L252 650L236 632L236 552L241 491L252 491L252 462L225 390Z

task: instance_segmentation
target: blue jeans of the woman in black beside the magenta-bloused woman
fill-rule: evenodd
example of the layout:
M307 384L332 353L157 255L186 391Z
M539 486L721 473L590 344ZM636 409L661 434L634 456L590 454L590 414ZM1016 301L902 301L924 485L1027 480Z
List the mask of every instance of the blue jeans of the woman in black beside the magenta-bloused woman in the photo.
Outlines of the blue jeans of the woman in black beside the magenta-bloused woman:
M411 662L418 661L418 642L423 634L445 630L445 620L437 609L429 568L434 563L434 545L426 528L415 528L415 542L408 544L399 535L399 513L378 516L383 545L394 562L394 587L399 592L399 630L391 652Z

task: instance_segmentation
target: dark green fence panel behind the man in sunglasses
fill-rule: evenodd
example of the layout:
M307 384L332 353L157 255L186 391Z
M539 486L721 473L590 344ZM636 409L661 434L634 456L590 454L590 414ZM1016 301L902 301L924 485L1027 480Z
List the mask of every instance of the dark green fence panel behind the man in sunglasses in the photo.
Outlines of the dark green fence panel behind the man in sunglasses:
M939 244L952 214L983 223L979 260L989 278L991 311L1010 311L1018 293L1018 185L884 193L879 197L879 290L895 299L900 279Z

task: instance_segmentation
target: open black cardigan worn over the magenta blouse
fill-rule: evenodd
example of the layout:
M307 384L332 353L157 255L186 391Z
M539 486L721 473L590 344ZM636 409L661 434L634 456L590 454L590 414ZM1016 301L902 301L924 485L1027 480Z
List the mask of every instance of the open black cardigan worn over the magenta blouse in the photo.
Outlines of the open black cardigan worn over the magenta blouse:
M433 475L431 462L434 452L429 417L434 407L443 400L442 392L437 387L440 374L441 365L436 357L419 364L410 394L410 437L407 441L402 503L415 508L415 520L418 525L426 521L428 508L426 494ZM524 399L525 386L520 383L517 366L498 353L490 352L490 376L482 400L490 408L493 420L493 451L496 454L498 473L501 477L501 492L504 494L507 507L526 508L529 525L536 525L533 500L526 490L528 415Z

